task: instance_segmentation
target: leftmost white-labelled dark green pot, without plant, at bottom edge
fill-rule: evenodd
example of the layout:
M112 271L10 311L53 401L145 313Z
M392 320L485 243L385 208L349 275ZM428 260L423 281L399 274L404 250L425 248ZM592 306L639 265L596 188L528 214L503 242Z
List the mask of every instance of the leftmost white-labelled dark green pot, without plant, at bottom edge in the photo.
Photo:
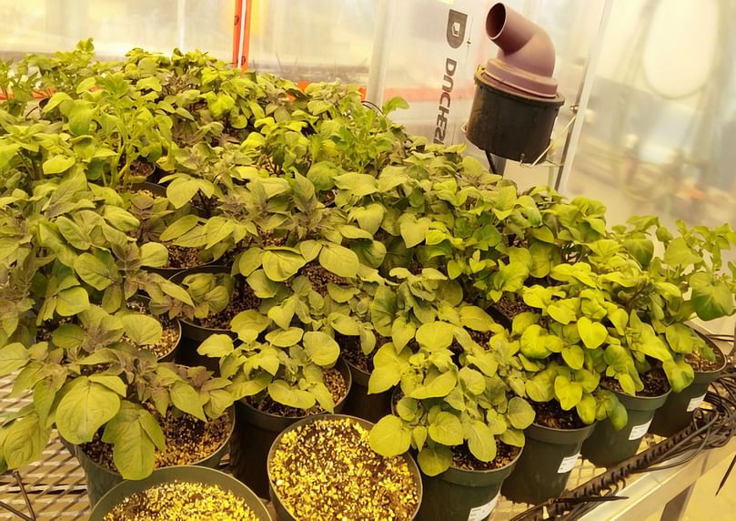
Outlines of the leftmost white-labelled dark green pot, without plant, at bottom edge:
M421 521L486 519L499 501L501 484L511 474L523 450L509 465L493 470L450 467L440 475L422 473L424 492L417 516Z

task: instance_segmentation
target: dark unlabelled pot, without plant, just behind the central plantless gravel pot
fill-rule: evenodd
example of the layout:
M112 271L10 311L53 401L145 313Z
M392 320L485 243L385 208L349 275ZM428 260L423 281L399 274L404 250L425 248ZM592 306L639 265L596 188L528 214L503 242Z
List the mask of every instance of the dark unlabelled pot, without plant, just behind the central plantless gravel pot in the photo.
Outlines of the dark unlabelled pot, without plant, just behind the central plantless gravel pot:
M335 364L348 385L348 393L352 380L348 364L338 359ZM345 404L345 397L335 404L335 412L340 413ZM277 416L264 413L239 400L235 404L237 427L230 444L230 469L233 475L248 485L260 497L268 495L267 457L271 444L284 429L295 424L304 416Z

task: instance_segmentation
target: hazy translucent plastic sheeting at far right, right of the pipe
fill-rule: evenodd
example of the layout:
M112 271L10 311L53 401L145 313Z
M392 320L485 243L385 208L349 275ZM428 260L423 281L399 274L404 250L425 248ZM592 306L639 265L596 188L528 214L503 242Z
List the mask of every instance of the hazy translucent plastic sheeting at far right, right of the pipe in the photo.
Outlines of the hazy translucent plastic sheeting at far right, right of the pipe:
M736 2L613 2L571 194L736 225Z

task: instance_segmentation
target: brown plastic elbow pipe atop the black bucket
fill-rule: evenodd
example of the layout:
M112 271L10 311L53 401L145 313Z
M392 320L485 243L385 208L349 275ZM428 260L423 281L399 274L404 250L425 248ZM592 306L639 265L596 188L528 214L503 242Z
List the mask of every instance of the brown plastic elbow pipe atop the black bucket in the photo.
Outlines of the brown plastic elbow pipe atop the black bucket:
M556 95L555 49L542 28L498 3L486 17L486 34L499 46L498 56L489 60L490 77L537 96Z

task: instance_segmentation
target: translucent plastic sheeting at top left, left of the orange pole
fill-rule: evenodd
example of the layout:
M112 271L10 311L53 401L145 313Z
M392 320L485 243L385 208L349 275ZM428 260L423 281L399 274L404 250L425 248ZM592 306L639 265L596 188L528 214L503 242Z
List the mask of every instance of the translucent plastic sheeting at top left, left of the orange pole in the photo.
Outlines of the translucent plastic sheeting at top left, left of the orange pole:
M232 56L233 0L0 0L0 13L3 56L71 50L88 37L109 58L135 46Z

